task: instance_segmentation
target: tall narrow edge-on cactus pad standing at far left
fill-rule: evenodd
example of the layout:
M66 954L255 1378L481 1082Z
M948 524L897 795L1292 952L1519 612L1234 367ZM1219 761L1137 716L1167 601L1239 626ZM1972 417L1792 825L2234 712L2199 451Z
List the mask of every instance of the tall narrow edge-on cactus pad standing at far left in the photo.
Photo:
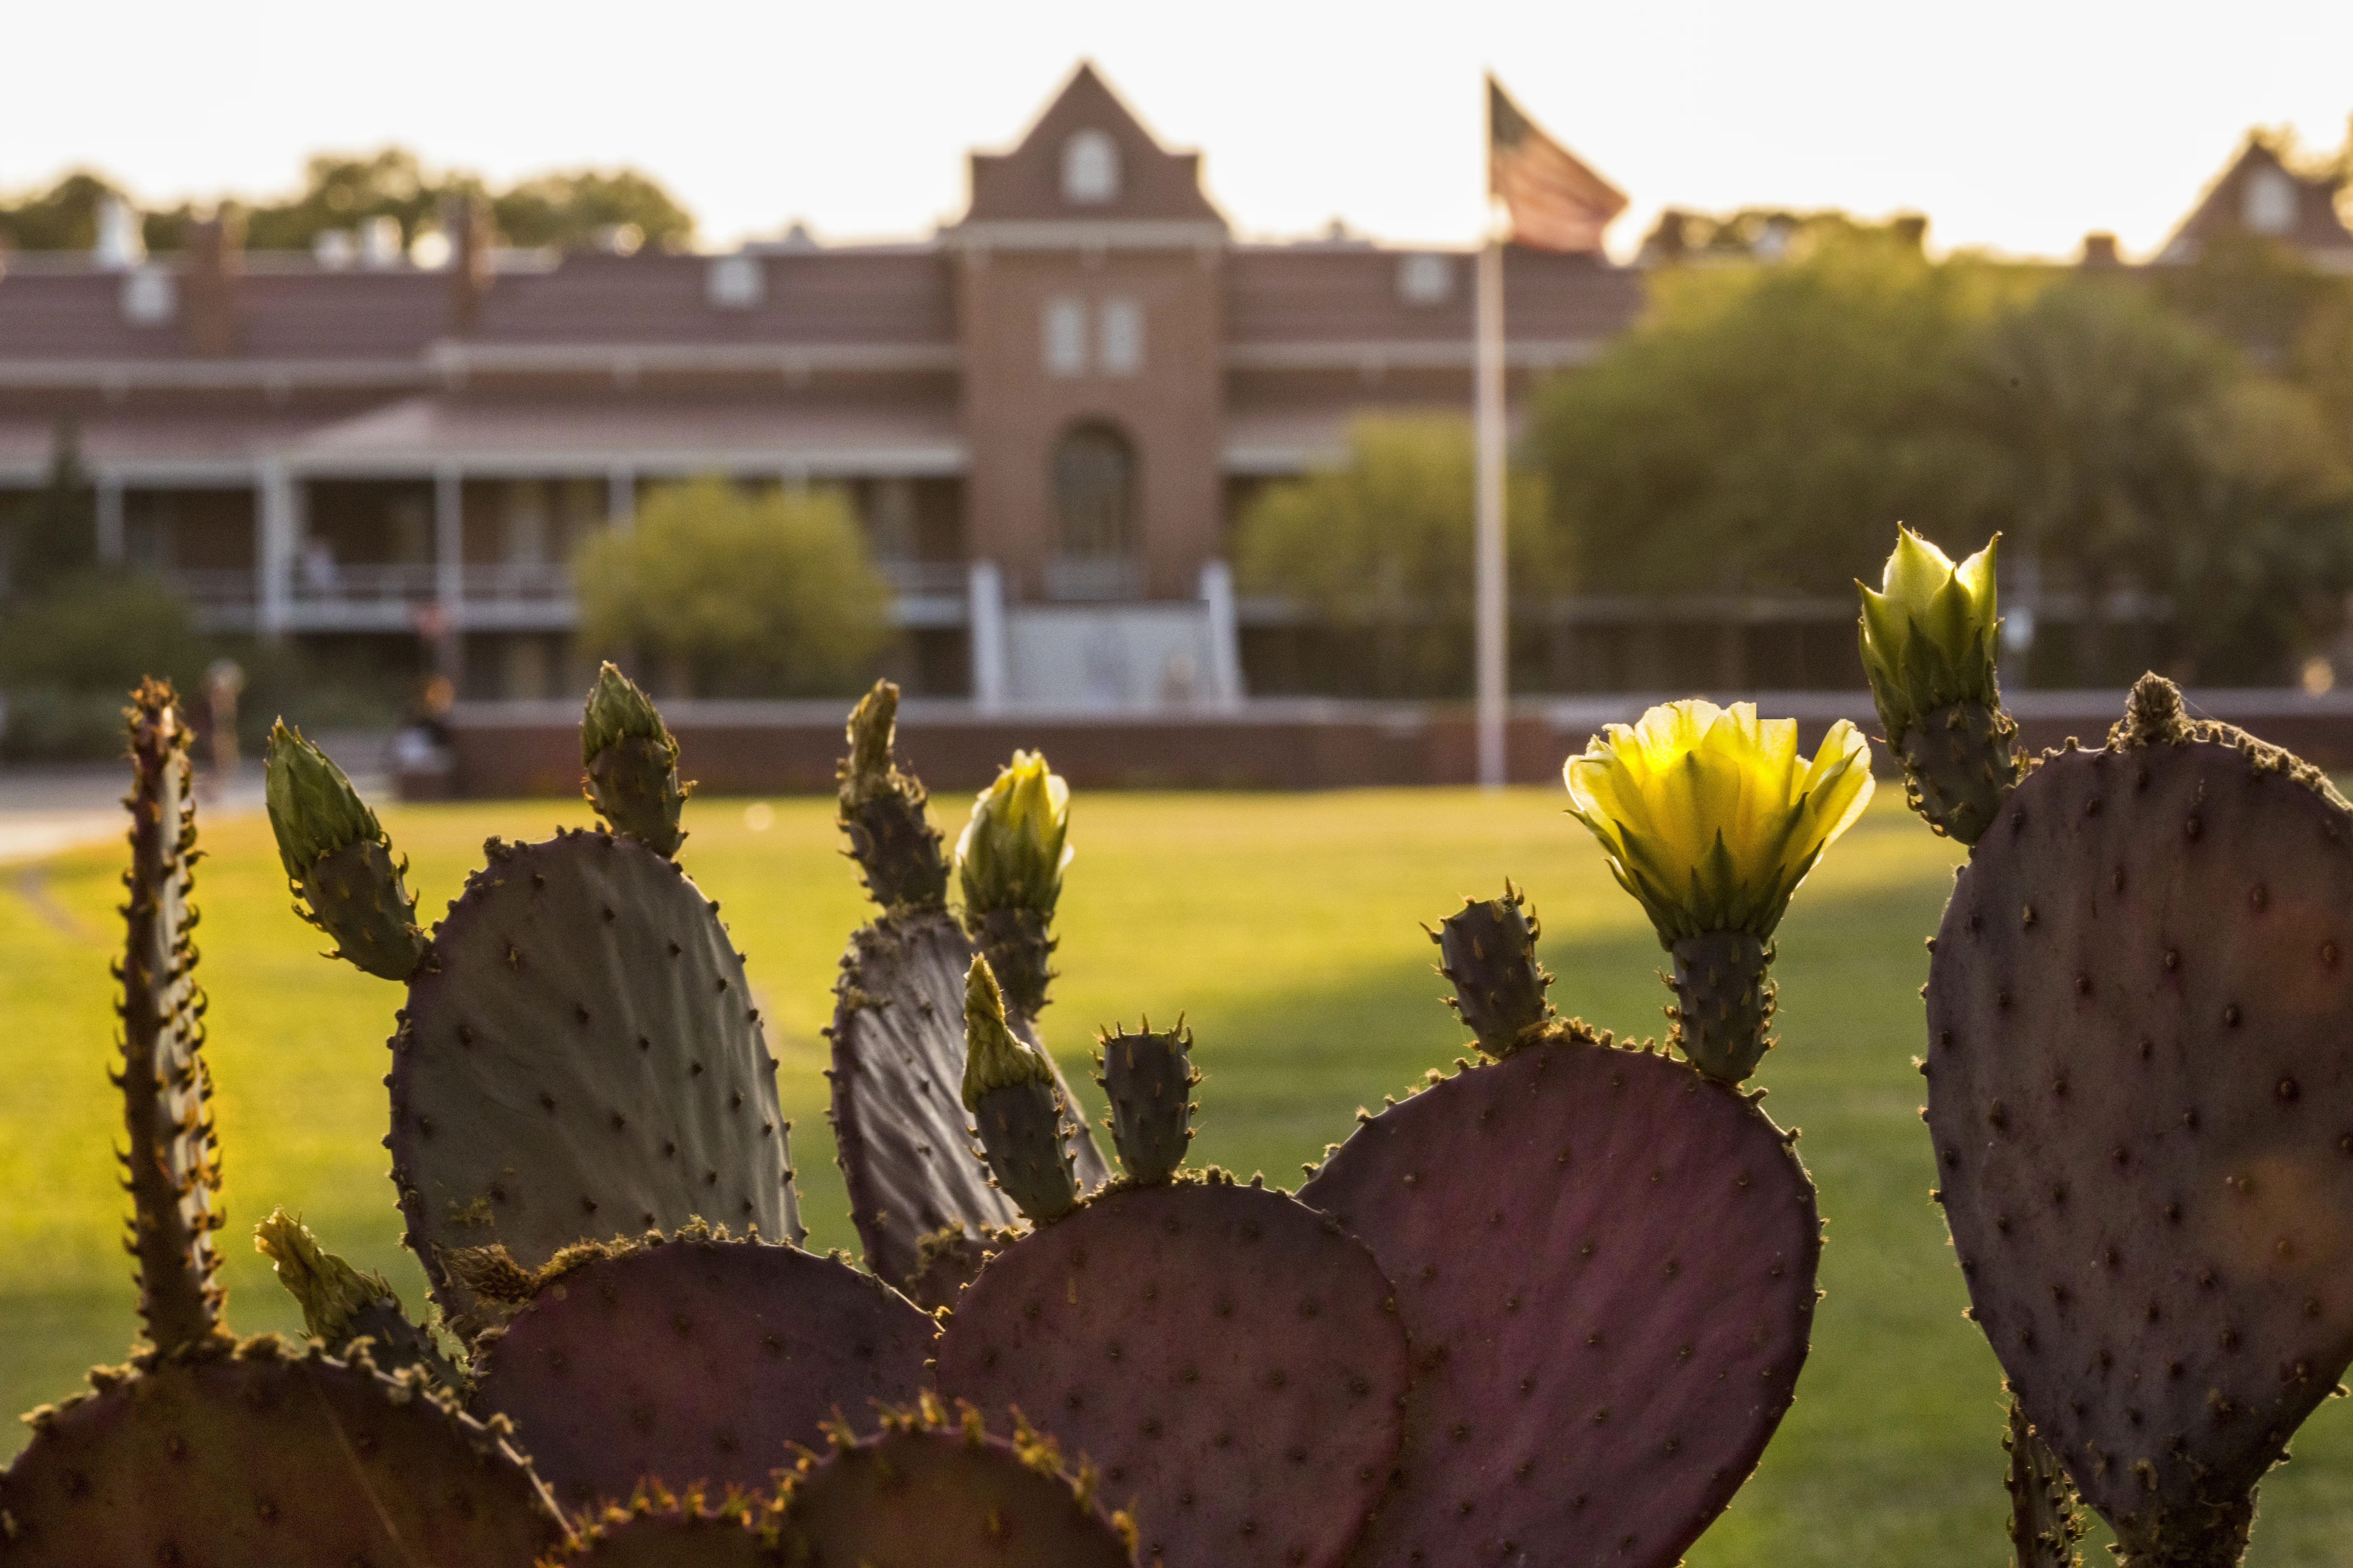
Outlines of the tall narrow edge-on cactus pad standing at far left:
M132 867L122 882L122 1124L129 1133L132 1239L139 1314L158 1352L221 1333L219 1255L212 1232L221 1166L212 1145L205 1072L205 994L195 987L195 799L188 731L167 682L144 682L129 710Z

